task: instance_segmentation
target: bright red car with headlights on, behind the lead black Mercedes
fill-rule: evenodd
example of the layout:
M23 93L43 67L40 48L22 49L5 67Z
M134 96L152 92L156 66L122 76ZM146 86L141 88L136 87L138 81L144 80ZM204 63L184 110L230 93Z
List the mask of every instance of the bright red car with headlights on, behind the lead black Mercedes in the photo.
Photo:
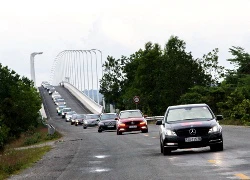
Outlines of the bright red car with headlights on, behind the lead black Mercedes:
M116 118L116 131L117 135L121 135L123 132L141 131L143 133L148 132L146 116L142 115L140 110L124 110L121 111Z

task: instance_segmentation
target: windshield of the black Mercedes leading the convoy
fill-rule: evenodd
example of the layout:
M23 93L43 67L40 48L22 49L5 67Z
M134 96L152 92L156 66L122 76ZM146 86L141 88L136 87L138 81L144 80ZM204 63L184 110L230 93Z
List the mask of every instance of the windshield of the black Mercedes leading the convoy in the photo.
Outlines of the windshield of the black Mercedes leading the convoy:
M211 111L207 107L185 107L170 109L166 116L166 122L187 120L210 120L213 119Z

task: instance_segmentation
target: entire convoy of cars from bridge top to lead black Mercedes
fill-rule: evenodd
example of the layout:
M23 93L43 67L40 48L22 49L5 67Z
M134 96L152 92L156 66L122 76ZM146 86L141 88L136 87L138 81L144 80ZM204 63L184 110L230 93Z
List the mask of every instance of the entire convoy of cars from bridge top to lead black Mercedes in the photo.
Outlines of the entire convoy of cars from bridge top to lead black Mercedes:
M43 82L42 86L46 90L52 88L47 82ZM78 114L66 106L56 90L50 95L54 103L58 103L58 115L71 125L82 125L83 129L97 127L99 133L112 130L117 135L132 131L148 132L147 116L138 109L123 110L119 114ZM223 151L222 127L218 122L222 119L223 116L215 116L207 104L169 106L164 118L156 121L161 153L168 155L177 149L205 146L209 146L211 151Z

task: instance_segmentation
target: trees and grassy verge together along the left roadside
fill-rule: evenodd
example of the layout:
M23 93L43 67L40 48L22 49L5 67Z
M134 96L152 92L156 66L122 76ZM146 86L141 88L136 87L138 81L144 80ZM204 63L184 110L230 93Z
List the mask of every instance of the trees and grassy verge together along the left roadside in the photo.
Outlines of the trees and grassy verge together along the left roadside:
M61 137L48 134L41 104L33 82L0 63L0 180L32 166L52 148L42 143Z

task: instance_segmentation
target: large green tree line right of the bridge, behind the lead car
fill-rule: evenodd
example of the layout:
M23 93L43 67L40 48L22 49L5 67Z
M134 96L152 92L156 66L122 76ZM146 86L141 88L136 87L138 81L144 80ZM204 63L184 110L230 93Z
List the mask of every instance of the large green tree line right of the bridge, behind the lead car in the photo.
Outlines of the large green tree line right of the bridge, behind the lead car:
M219 65L219 49L201 58L186 51L186 43L171 36L165 46L148 42L130 56L107 57L100 92L117 109L140 108L148 115L163 115L170 105L206 103L216 114L249 123L250 54L229 48L234 69Z

